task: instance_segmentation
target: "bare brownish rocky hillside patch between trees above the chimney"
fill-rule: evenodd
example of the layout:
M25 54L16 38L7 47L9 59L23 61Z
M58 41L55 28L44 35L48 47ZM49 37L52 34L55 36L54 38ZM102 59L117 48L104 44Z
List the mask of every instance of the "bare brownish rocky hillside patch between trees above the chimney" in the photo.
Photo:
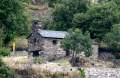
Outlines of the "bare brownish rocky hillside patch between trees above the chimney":
M33 20L44 20L48 17L49 8L43 0L32 0L32 3L27 6L27 9L32 15Z

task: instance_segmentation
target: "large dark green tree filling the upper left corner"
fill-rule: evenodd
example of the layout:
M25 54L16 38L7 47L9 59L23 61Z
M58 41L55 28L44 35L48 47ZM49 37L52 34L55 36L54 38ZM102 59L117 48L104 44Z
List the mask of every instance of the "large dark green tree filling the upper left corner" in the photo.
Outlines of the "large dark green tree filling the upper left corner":
M0 0L0 29L3 28L4 44L15 36L28 33L28 19L20 0Z

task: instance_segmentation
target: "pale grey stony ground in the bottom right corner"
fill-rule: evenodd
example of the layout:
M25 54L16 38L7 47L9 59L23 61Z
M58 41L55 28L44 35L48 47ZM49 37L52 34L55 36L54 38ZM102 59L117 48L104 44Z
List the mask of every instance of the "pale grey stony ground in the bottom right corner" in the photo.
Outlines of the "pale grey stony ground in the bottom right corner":
M120 68L84 68L87 78L120 78Z

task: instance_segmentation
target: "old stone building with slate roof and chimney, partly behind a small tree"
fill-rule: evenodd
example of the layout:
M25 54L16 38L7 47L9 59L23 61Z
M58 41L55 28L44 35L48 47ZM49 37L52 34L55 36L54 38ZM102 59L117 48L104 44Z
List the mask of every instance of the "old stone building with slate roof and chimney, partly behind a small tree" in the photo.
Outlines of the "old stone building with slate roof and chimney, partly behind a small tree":
M35 20L32 23L32 32L28 36L28 51L33 56L39 56L41 51L53 55L64 54L69 55L69 51L65 51L61 48L61 40L65 38L68 33L65 31L51 31L43 30L41 22ZM98 57L98 44L93 42L92 56Z

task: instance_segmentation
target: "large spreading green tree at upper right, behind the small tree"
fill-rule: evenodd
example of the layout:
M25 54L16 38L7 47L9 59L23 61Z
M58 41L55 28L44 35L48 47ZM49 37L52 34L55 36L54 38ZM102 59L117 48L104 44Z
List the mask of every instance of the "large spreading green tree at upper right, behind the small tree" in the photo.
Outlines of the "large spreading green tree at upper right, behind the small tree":
M92 38L103 39L112 25L119 23L120 11L114 2L96 4L86 13L74 15L73 24L83 32L89 31Z

